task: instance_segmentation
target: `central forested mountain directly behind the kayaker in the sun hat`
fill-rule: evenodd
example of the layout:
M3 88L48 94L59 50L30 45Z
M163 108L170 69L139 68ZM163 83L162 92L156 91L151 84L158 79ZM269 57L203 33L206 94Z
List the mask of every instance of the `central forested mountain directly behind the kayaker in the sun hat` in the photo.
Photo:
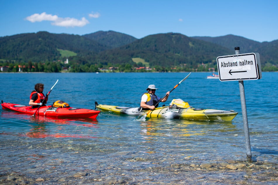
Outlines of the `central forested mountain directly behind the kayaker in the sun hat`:
M150 66L196 65L216 60L217 56L228 55L233 51L217 44L193 39L182 34L167 33L149 35L119 48L102 51L97 62L132 62L139 57Z

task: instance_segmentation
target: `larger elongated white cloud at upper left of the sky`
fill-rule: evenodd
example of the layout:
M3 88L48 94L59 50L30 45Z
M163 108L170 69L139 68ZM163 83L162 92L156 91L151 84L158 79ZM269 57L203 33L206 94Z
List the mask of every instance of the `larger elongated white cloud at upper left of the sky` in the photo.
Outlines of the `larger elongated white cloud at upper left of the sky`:
M41 22L41 21L51 21L52 25L62 26L62 27L83 27L89 24L89 21L86 18L81 20L75 18L59 18L57 15L46 14L45 12L38 14L35 13L26 18L30 22Z

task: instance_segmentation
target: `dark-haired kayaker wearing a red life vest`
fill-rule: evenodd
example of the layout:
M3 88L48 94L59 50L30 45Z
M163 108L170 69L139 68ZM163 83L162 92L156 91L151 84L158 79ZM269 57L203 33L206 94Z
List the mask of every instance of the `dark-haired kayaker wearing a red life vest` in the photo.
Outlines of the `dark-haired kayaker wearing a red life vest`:
M33 109L38 108L39 106L41 106L41 107L46 106L45 104L48 100L48 95L47 95L47 97L45 97L44 93L42 93L43 90L44 90L44 84L37 83L35 85L35 90L33 90L31 92L29 105L32 105ZM44 102L43 102L43 100L44 100Z

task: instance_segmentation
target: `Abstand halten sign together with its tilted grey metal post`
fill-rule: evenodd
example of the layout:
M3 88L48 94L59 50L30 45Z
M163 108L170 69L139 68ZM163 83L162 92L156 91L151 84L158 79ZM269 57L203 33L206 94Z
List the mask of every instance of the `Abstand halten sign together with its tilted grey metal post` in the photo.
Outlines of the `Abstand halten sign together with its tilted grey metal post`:
M217 57L217 67L220 81L239 81L242 118L247 160L251 162L251 145L248 128L245 92L243 80L257 80L262 77L259 53L240 54L235 47L235 55Z

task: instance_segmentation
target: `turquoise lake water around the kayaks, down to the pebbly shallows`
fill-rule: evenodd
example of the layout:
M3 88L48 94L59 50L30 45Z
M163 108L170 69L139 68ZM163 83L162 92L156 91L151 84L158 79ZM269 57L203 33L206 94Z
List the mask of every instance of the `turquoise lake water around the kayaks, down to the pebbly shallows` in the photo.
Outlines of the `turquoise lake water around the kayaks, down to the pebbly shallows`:
M0 100L28 104L35 83L44 83L46 94L59 79L47 104L63 100L71 107L94 109L97 101L138 107L149 84L155 84L156 94L163 97L187 74L0 73ZM191 73L164 104L181 98L195 108L232 109L239 112L232 122L163 119L139 122L132 116L110 113L100 113L95 120L52 120L1 109L0 169L9 166L8 171L24 172L30 164L50 168L49 163L58 160L65 161L61 165L69 171L82 171L94 169L99 163L103 168L123 167L126 166L123 160L142 156L161 160L162 164L171 160L183 162L185 158L196 163L246 160L239 83L206 79L210 74ZM278 160L277 80L278 73L263 72L260 80L244 81L253 160ZM154 163L141 165L148 167Z

